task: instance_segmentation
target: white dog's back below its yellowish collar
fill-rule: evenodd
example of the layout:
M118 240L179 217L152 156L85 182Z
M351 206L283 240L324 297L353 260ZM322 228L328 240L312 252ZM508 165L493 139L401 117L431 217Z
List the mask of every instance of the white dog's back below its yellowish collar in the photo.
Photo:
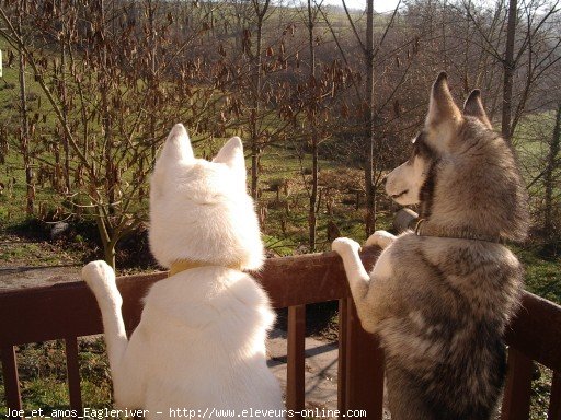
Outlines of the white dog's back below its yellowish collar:
M157 283L139 326L146 408L282 410L265 355L274 319L266 294L240 271L202 267Z

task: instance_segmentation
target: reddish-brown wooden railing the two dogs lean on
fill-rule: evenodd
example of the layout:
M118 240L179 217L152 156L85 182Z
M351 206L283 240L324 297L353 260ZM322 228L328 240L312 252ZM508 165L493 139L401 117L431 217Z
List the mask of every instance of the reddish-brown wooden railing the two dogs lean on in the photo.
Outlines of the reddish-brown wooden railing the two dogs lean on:
M364 253L363 260L369 269L376 260L376 252ZM157 273L117 280L128 330L139 322L141 299L150 285L164 277L165 273ZM275 307L288 307L287 408L305 407L306 305L339 301L339 410L342 413L351 409L366 410L367 419L381 419L383 352L377 339L360 327L341 259L333 253L270 259L255 277L260 278ZM69 405L81 412L77 338L100 332L98 305L81 281L0 292L0 347L7 407L22 409L14 346L64 339ZM523 307L508 328L506 339L508 373L502 418L528 419L535 360L554 372L548 419L561 419L561 307L525 293Z

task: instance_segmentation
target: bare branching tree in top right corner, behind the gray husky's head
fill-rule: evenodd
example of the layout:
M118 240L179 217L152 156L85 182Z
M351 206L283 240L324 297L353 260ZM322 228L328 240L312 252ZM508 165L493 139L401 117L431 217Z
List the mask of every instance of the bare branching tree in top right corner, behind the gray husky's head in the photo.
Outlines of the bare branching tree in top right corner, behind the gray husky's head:
M540 80L548 79L548 72L556 71L554 65L561 59L557 54L561 40L553 24L559 1L530 0L520 8L517 0L511 0L505 11L505 4L500 0L494 5L492 16L468 3L465 4L465 12L476 30L466 42L477 44L481 51L479 61L486 62L486 69L496 65L501 68L501 133L512 140L527 112L528 101L540 90ZM515 83L515 79L524 82ZM491 81L492 78L488 77L488 88L496 85ZM492 103L490 105L493 115L494 106Z

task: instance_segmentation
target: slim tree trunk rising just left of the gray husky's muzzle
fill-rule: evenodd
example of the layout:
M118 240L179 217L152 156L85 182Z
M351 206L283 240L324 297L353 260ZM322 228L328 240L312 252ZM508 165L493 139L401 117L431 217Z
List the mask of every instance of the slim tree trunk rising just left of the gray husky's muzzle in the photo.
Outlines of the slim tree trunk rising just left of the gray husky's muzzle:
M373 183L373 164L374 164L374 1L367 0L366 8L366 89L368 95L368 110L365 118L365 187L366 187L366 236L368 237L375 229L376 212L374 208L374 183Z

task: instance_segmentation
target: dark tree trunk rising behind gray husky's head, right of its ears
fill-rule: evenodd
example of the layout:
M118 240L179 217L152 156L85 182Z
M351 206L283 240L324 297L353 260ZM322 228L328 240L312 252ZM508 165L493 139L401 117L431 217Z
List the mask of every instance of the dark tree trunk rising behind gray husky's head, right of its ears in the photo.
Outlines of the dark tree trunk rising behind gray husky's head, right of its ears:
M503 59L503 107L501 118L501 135L511 142L511 114L513 108L513 78L515 70L514 62L514 38L516 35L517 0L508 1L508 22L506 25L506 46Z

